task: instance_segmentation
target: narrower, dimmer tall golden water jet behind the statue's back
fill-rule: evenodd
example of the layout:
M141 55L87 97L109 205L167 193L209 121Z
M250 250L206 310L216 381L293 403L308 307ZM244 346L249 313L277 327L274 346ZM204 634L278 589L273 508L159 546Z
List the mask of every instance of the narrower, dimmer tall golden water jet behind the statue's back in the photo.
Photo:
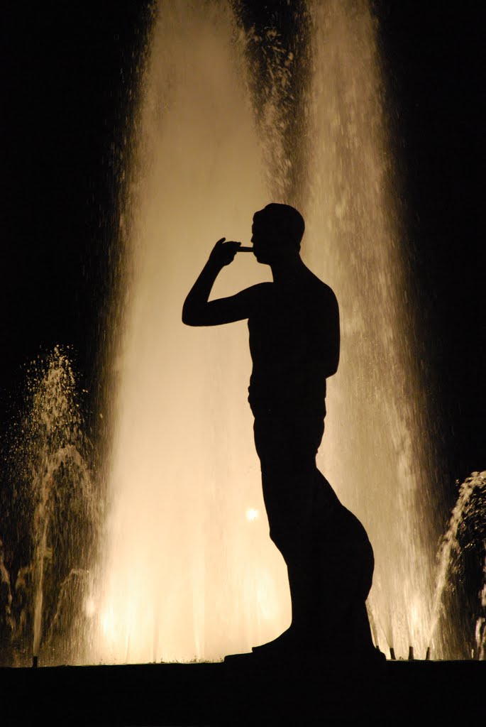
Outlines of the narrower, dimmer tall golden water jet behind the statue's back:
M329 0L312 4L312 24L306 250L336 292L342 326L319 459L373 543L381 648L405 658L413 646L424 658L440 534L433 412L419 375L376 19L365 0Z

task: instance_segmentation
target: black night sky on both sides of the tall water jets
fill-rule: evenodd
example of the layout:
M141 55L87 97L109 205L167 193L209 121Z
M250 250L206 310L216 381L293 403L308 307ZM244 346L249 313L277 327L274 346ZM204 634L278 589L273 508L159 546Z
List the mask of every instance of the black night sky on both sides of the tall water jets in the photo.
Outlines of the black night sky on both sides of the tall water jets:
M259 3L279 12L285 3ZM22 367L57 343L96 387L116 178L144 4L1 10L0 433ZM251 9L251 7L250 7ZM450 452L446 476L486 467L485 13L440 0L376 3L397 129L421 317ZM446 468L447 469L447 468Z

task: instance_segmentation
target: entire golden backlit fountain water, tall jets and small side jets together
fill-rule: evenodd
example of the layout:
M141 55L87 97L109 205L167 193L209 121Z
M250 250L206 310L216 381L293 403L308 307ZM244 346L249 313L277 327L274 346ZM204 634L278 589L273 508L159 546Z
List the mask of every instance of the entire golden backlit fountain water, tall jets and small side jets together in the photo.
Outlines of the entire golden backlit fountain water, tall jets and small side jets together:
M16 502L31 531L15 572L1 563L4 662L215 660L287 627L246 403L246 324L180 320L214 241L248 242L268 201L301 209L304 259L341 305L319 463L373 543L376 643L405 658L410 646L422 659L485 657L486 473L461 486L439 545L438 433L415 363L376 20L365 0L316 1L304 20L296 95L298 59L275 29L244 28L222 2L158 9L120 219L113 440L103 472L90 471L56 350L30 379L30 423L16 435L12 477L22 471ZM214 295L267 274L240 255ZM463 624L467 553L483 565Z

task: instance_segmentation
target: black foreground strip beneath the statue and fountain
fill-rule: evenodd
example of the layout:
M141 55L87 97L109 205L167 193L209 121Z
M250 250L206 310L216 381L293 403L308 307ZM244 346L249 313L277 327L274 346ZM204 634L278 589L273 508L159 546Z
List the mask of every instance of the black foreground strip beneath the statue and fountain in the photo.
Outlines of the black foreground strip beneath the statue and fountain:
M5 727L446 725L484 716L486 662L2 668L0 694Z

